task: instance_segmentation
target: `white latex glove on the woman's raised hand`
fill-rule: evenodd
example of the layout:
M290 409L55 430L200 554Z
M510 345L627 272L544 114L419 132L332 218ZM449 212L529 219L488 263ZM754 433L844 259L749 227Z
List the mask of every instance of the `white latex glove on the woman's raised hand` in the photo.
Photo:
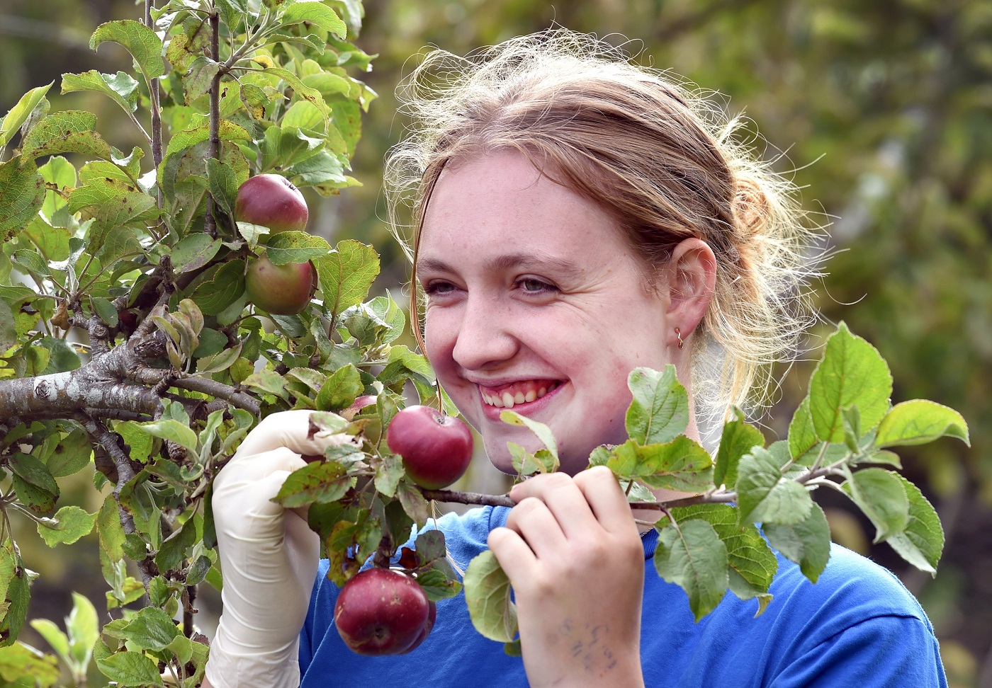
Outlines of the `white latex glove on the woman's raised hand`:
M308 439L309 410L273 413L245 437L213 483L223 613L206 677L214 688L297 688L300 630L316 577L319 538L306 517L272 502L301 454L350 438Z

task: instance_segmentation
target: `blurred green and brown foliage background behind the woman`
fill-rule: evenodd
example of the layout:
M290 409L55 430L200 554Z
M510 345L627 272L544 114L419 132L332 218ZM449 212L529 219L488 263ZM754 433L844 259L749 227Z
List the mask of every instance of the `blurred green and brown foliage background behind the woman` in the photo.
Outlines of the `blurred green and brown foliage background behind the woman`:
M365 12L357 43L379 56L366 76L380 98L354 161L364 186L309 196L310 229L375 245L383 273L374 288L398 300L407 266L383 220L380 172L405 125L393 89L425 46L463 54L558 23L629 39L642 63L671 68L746 112L769 142L761 154L795 171L806 208L832 221L836 255L816 286L825 322L809 345L845 320L889 362L895 401L945 403L971 428L970 449L945 439L902 452L946 529L935 579L872 545L867 521L827 495L835 539L892 568L920 597L952 686L992 687L992 2L368 0ZM130 0L0 0L0 113L55 79L54 110L91 110L113 145L139 145L109 101L53 97L62 72L126 66L116 47L90 52L88 37L100 22L139 14ZM781 411L766 419L771 435L785 432L810 368L800 363L786 376ZM481 458L469 480L488 492L504 486ZM92 488L84 479L74 488L85 504ZM72 589L100 607L92 543L49 550L27 535L19 541L43 574L29 618L61 621ZM208 596L203 605L208 612Z

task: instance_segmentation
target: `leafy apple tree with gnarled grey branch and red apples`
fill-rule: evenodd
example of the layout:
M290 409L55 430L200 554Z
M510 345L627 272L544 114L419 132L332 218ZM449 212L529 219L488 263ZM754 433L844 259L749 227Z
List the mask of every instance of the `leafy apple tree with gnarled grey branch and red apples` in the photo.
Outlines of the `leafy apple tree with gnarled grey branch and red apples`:
M211 482L260 418L291 408L311 409L314 432L342 438L276 498L309 508L330 576L350 591L342 600L362 599L352 583L403 587L422 612L409 651L430 632L434 602L464 585L476 628L515 650L494 558L481 555L462 577L443 535L424 528L432 500L511 503L438 489L467 454L455 452L459 466L442 477L425 466L434 430L403 427L421 416L434 429L449 423L407 400L455 409L426 359L397 343L403 309L388 292L370 297L375 250L312 236L297 196L296 187L332 195L357 183L349 160L375 97L359 78L372 57L348 41L361 18L357 0L146 0L143 17L103 24L90 39L94 50L126 50L130 71L67 73L61 84L114 101L143 146L116 149L91 113L51 112L54 84L0 121L4 680L49 686L62 673L55 655L17 639L34 574L10 522L24 518L50 546L98 533L109 617L76 596L64 631L31 621L76 685L91 664L117 685L196 685L208 652L193 631L196 587L222 585ZM590 462L659 516L655 565L685 589L696 618L728 589L759 610L774 604L770 546L816 579L829 545L810 499L819 487L848 495L879 539L935 570L939 521L892 470L890 448L967 441L966 424L930 401L893 405L885 361L846 327L827 343L788 439L771 444L737 414L711 456L683 434L687 396L673 369L636 370L629 385L630 439ZM392 424L410 417L421 419ZM547 427L513 410L503 417L545 445L511 447L521 475L557 468ZM467 434L455 431L464 448ZM90 462L102 507L60 505L59 479ZM695 496L663 504L650 488ZM359 576L369 564L384 573Z

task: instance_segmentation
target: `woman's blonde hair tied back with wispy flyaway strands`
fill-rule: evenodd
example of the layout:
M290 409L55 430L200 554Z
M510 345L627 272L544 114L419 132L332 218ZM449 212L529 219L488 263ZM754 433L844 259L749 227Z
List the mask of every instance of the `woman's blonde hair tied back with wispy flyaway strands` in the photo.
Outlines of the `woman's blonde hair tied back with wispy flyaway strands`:
M693 334L696 401L716 412L763 401L771 364L792 355L811 317L804 286L816 274L807 255L815 234L792 181L738 140L741 118L563 29L467 57L434 50L398 97L413 124L390 151L386 185L393 231L411 260L445 166L515 150L615 218L649 287L683 239L709 244L716 286ZM403 207L413 212L413 237L404 236ZM419 312L416 274L411 312ZM703 355L709 344L723 351L715 368Z

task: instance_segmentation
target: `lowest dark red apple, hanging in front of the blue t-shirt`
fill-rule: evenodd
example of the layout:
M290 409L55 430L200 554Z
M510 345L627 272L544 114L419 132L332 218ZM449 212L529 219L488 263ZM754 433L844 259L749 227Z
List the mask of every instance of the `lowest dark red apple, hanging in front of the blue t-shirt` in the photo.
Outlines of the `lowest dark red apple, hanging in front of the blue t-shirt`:
M430 617L424 589L410 576L385 568L358 573L334 604L334 626L344 644L371 656L407 652L426 636Z

